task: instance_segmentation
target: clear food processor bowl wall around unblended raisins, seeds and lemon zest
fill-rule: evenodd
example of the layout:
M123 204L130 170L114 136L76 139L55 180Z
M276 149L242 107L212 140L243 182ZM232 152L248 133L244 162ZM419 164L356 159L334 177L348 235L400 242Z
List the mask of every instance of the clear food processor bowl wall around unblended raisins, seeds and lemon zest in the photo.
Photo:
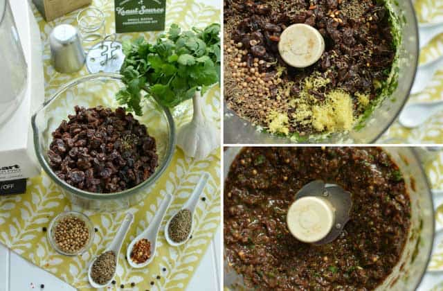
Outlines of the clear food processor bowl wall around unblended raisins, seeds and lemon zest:
M388 127L397 119L409 97L413 85L419 56L418 28L413 4L410 0L392 1L392 12L399 20L401 44L398 48L399 63L394 70L398 70L397 89L382 100L372 114L361 124L360 130L335 133L319 137L307 136L302 143L373 143L388 130ZM361 126L360 126L361 125ZM298 143L294 139L284 138L261 132L258 128L239 117L224 103L224 142L235 143Z

